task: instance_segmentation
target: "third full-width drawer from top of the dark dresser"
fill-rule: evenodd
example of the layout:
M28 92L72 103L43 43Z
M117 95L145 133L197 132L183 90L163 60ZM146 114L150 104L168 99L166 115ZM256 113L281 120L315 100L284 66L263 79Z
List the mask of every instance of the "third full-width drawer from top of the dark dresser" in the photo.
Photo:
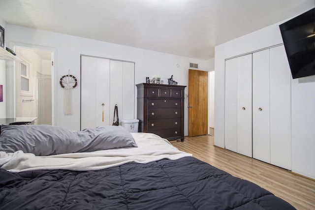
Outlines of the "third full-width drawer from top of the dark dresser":
M160 129L174 129L177 130L182 127L180 118L173 119L154 119L147 121L147 131L160 130Z

